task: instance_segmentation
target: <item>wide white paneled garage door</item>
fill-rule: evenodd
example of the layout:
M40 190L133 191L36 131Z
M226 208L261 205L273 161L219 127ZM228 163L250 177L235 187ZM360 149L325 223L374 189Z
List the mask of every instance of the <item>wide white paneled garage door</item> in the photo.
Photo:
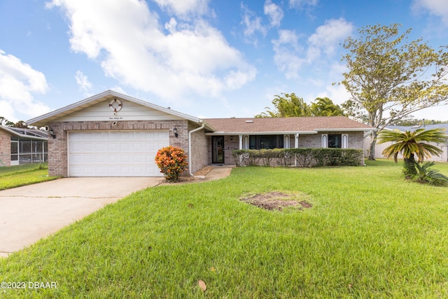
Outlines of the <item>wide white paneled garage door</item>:
M168 130L69 132L69 176L162 176L154 162Z

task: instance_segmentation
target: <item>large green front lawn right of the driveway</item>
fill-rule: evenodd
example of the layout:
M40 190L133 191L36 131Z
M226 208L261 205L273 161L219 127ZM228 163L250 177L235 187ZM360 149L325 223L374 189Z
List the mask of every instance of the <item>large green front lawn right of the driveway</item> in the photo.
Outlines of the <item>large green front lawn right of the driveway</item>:
M447 298L448 188L409 183L387 160L367 165L240 167L142 190L0 259L0 281L57 283L0 297ZM313 207L239 201L272 190L306 193Z

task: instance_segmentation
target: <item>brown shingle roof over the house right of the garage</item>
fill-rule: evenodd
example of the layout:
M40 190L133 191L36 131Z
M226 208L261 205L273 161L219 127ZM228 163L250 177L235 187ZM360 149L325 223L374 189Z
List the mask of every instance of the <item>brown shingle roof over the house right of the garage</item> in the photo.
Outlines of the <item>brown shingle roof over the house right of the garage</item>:
M215 133L316 133L318 131L369 131L374 127L345 116L294 118L206 118Z

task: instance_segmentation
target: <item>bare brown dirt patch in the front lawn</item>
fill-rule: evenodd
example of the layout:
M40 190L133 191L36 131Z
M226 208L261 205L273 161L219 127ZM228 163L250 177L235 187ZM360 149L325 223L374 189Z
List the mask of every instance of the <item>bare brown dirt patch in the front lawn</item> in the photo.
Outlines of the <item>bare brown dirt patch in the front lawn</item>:
M304 193L286 194L278 191L243 197L241 198L241 202L247 202L248 204L253 204L256 207L269 211L281 211L285 207L293 207L302 211L303 209L312 207L309 202L309 195Z

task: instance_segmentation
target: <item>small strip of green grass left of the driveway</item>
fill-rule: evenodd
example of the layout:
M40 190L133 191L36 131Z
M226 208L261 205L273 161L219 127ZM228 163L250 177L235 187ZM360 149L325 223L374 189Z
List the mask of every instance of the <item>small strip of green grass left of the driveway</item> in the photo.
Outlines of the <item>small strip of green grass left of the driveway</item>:
M47 163L0 167L0 190L57 179L48 176Z

